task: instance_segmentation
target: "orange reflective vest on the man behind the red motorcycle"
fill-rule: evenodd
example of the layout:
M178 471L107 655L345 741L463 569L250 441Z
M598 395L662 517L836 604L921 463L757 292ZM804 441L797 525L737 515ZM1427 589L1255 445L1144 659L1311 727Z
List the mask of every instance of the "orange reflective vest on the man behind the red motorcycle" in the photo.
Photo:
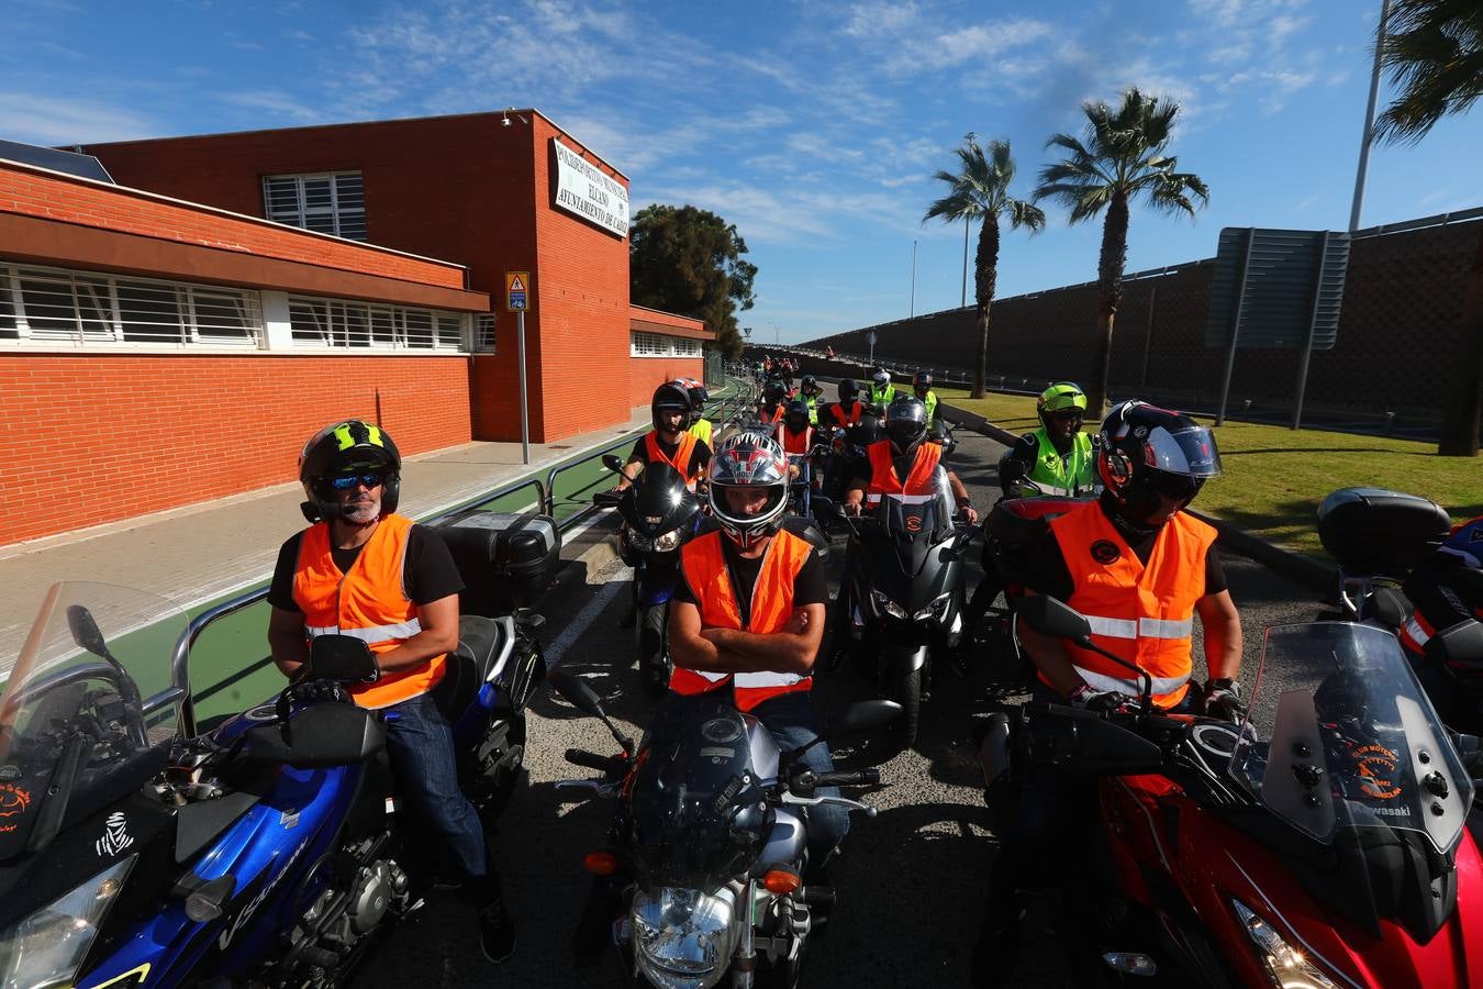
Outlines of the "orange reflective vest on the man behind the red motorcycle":
M1160 529L1148 563L1129 549L1096 501L1056 516L1050 531L1075 581L1066 603L1086 615L1091 641L1146 670L1154 703L1173 707L1183 700L1194 669L1195 602L1204 596L1206 555L1216 531L1179 512ZM1127 667L1071 642L1065 646L1093 689L1143 692L1142 679Z

